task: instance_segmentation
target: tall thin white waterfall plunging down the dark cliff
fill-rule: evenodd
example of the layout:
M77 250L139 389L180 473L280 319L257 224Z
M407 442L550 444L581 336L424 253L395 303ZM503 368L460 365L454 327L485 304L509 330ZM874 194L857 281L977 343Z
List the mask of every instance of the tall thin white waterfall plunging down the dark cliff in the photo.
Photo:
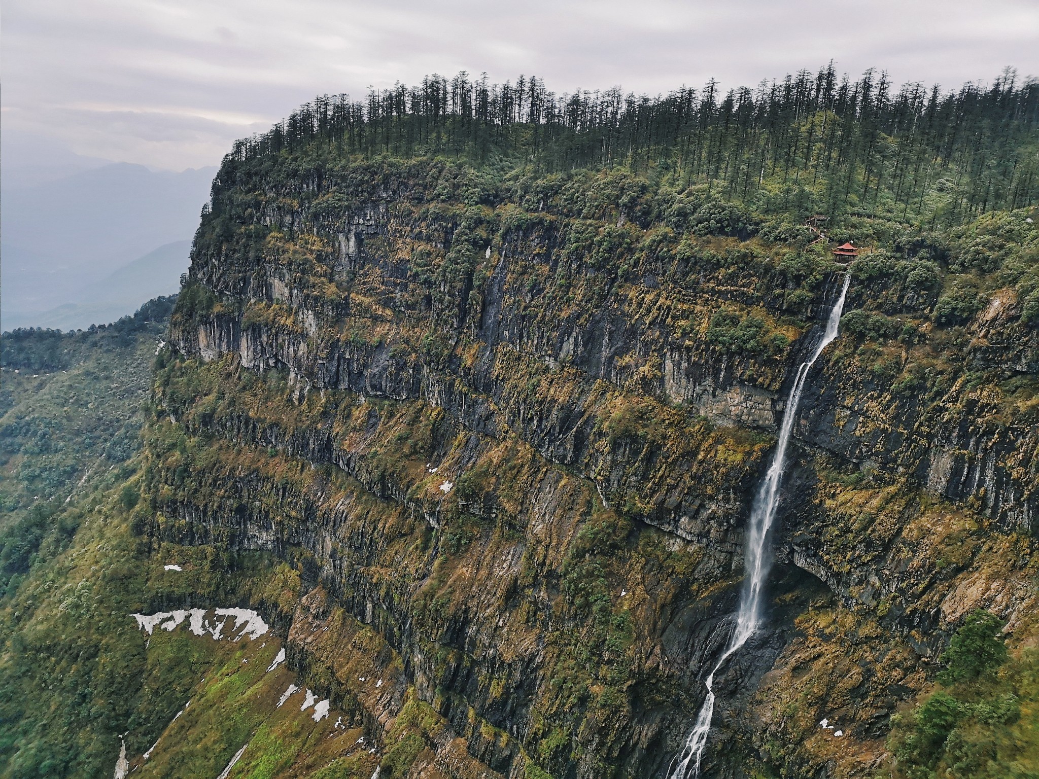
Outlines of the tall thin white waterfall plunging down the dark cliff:
M767 542L769 531L775 520L776 509L779 507L779 486L782 484L787 447L794 430L794 420L797 418L797 407L801 403L801 392L804 390L808 371L819 359L823 349L837 337L841 313L844 310L845 296L848 294L850 280L851 274L848 273L845 275L844 286L841 289L841 297L837 298L833 311L830 312L830 317L826 321L826 330L823 332L822 340L811 352L811 356L797 369L794 385L790 388L787 407L783 409L782 423L779 425L779 440L775 454L772 456L772 464L769 465L765 480L757 490L754 504L750 509L750 519L747 522L747 533L743 545L743 589L740 593L740 608L736 613L736 627L725 645L725 650L704 681L708 689L707 698L703 699L703 705L696 716L696 724L693 725L689 737L686 738L686 745L675 758L678 760L678 764L668 775L668 779L686 779L690 763L692 763L692 776L694 778L699 776L700 758L703 756L703 748L707 746L708 734L711 732L711 719L714 717L715 694L712 687L715 674L725 665L725 661L747 643L761 622L762 590L765 588L765 580L768 577L771 563Z

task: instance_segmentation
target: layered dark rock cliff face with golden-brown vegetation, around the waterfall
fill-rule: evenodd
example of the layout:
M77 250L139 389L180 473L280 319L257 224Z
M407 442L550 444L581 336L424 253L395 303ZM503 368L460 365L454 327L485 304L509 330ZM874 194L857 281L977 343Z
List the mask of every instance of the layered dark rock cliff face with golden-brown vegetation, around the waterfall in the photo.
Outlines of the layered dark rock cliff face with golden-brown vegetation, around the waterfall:
M401 776L664 776L851 272L770 622L718 682L708 760L869 773L967 611L1032 624L1039 338L1011 288L942 321L957 248L933 236L863 222L886 250L849 271L789 225L697 226L704 202L623 173L225 163L161 356L142 530L296 566L293 668L387 748L414 702L438 718Z

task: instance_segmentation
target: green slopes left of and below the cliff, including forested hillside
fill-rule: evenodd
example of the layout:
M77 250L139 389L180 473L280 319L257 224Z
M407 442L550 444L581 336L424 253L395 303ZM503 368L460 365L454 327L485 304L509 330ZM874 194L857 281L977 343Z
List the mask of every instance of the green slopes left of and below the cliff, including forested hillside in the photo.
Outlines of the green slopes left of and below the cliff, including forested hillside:
M296 602L298 575L254 556L229 581L212 550L142 544L133 531L142 411L171 305L86 332L4 334L0 776L217 776L236 755L259 776L370 776L383 755L363 724L295 683L259 615L176 609L251 591L276 614ZM378 681L394 689L389 674Z

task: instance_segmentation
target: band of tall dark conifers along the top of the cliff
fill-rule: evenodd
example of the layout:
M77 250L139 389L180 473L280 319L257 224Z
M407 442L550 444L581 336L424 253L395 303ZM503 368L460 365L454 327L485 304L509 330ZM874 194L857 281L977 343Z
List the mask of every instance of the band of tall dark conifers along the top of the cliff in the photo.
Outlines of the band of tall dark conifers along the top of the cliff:
M1007 69L990 85L895 88L830 63L756 89L710 81L651 98L577 90L538 78L428 76L367 100L322 96L229 162L281 154L456 156L532 172L627 167L765 210L960 223L1039 198L1039 82Z

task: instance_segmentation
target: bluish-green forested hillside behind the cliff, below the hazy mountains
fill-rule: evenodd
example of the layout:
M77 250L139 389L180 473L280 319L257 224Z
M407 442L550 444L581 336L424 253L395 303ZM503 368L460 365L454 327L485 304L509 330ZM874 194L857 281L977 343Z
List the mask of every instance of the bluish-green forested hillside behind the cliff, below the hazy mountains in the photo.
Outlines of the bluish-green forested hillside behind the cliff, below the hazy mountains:
M4 333L0 591L17 588L54 531L53 514L139 449L150 354L165 338L172 302L157 298L133 317L80 332Z

